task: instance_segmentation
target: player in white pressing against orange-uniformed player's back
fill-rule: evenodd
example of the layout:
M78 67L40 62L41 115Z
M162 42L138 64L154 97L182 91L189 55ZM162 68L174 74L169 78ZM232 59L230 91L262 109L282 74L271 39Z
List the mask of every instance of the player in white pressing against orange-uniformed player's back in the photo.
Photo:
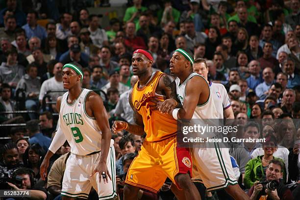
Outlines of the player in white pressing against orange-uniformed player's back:
M175 119L218 119L209 85L205 78L193 73L194 59L186 50L177 49L172 55L171 74L175 79L176 93L182 108L173 108L172 100L158 104L158 109L168 112ZM225 189L235 200L249 200L237 184L227 149L193 148L193 180L202 182L207 191ZM222 158L222 159L221 159ZM221 161L222 160L222 161Z

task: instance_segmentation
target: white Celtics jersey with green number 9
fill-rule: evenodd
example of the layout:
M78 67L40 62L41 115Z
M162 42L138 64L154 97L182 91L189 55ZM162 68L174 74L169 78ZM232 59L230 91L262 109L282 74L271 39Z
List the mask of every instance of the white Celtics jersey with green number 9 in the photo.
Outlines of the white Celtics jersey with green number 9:
M101 132L95 118L85 112L85 100L92 90L82 89L74 103L68 103L69 92L62 96L59 111L59 127L70 144L71 152L87 155L100 151Z

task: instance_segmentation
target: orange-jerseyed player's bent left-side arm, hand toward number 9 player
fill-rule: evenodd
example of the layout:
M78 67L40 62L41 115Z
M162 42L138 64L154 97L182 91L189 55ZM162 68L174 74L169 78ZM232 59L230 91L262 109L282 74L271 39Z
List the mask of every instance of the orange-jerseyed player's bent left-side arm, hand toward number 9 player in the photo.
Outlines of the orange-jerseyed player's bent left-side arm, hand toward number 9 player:
M128 132L135 134L135 135L143 135L144 134L144 123L143 123L143 117L136 111L132 104L132 90L129 92L129 104L133 110L133 120L135 124L129 124L123 121L115 121L112 130L114 133L117 133L117 131L120 130L127 130Z

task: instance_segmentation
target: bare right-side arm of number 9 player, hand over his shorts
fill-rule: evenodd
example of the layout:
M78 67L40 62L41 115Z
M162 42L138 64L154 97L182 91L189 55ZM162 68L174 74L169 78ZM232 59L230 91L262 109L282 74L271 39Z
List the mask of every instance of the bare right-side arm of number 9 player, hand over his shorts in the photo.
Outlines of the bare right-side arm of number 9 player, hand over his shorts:
M102 173L104 172L106 178L103 178L103 182L107 183L108 178L110 178L111 180L111 175L109 174L106 165L107 155L110 147L110 139L111 139L108 117L107 117L106 109L103 105L103 101L98 94L91 92L87 99L89 101L90 109L94 113L97 124L102 132L100 162L97 168L95 169L95 171L92 173L92 175L94 175L96 172L99 172L100 182L101 182Z

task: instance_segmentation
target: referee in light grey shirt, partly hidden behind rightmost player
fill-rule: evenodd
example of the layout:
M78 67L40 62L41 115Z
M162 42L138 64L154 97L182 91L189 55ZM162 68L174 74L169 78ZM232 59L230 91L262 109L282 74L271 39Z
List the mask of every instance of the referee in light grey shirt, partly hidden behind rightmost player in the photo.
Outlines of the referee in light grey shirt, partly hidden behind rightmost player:
M219 111L218 119L234 119L230 100L224 85L208 81L208 67L204 59L197 58L193 65L193 71L205 78L208 82L216 109ZM223 112L221 112L223 110Z

